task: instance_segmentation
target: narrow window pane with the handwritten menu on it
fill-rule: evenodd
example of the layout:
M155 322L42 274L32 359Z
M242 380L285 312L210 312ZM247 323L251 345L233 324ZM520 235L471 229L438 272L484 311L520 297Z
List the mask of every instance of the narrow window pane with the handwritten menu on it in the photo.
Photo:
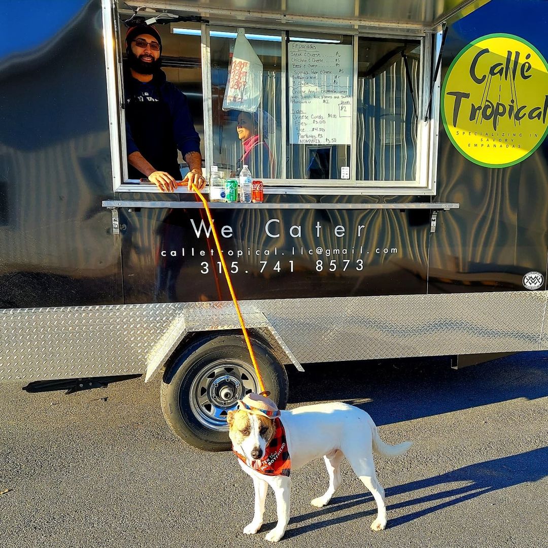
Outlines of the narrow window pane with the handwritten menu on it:
M304 32L288 38L288 179L350 180L354 38Z

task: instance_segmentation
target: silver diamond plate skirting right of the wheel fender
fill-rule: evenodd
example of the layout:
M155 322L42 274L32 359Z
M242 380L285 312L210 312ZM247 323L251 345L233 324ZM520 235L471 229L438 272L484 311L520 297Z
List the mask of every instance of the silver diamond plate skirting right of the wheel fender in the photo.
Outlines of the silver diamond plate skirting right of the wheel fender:
M547 297L548 292L493 292L255 305L306 363L545 350Z

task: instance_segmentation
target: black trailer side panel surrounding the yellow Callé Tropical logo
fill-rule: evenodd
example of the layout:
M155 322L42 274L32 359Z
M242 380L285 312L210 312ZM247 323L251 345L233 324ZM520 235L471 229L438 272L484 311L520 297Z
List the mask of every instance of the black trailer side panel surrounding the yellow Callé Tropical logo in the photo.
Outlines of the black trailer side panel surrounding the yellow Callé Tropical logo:
M460 19L447 34L442 81L456 55L486 35L524 39L548 59L547 7L547 2L492 0ZM540 105L547 93L537 90ZM507 138L503 124L496 132L488 122L477 129L496 143ZM436 201L459 202L460 209L443 217L431 239L429 293L527 291L523 277L531 271L543 274L538 289L546 289L548 139L520 163L489 168L461 155L440 122L437 188Z

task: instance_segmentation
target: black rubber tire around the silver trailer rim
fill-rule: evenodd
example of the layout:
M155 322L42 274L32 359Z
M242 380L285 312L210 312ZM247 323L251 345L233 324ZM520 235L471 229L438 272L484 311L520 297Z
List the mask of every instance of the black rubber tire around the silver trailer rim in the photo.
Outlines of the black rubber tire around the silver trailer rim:
M288 380L286 369L260 339L252 338L255 359L265 389L280 409L287 405ZM195 375L209 362L222 357L233 357L253 364L243 335L209 334L195 339L175 358L172 367L164 373L160 387L160 401L165 420L173 432L191 446L203 451L231 449L229 433L204 426L192 412L189 401L190 387ZM259 385L255 378L257 386Z

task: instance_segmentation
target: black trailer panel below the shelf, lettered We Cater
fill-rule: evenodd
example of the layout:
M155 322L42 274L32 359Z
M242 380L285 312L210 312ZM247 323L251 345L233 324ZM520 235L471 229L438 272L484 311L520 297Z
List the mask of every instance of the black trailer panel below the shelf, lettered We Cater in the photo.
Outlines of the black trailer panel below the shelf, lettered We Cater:
M213 209L238 298L427 293L430 210L306 205ZM120 219L127 304L230 300L203 209L125 209Z

